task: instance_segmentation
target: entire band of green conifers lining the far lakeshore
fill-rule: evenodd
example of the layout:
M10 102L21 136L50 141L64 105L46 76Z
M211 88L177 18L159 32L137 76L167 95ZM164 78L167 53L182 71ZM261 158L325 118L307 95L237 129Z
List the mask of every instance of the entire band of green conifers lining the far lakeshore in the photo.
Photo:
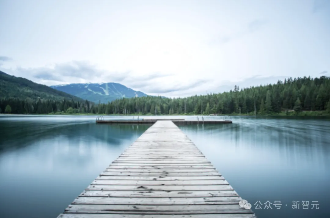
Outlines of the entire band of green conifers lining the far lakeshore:
M330 113L330 77L291 77L277 84L195 95L185 98L157 96L121 98L107 104L71 101L27 102L3 99L0 108L11 113L94 113L94 114L277 114L282 111Z

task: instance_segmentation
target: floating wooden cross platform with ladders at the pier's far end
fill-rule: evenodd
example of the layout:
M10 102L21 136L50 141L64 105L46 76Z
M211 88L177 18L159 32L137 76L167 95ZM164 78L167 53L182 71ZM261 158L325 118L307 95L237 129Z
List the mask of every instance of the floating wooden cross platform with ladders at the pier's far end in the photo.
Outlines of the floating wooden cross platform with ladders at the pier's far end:
M230 120L185 120L185 119L140 119L140 120L104 120L96 119L98 124L153 124L157 121L172 121L175 124L231 124Z

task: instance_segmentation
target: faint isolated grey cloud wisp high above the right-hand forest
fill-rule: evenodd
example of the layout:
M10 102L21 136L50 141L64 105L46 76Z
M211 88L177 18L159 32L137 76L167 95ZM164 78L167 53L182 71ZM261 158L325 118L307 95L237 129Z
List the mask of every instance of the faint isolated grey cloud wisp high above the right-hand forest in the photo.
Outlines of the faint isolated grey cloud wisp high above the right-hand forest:
M268 23L268 21L264 20L264 19L252 20L251 22L248 23L246 29L244 29L242 31L235 32L235 33L230 34L230 35L218 36L214 40L212 40L211 43L212 44L213 43L215 43L215 44L225 44L225 43L230 42L232 40L235 40L237 38L243 37L246 34L256 32L256 31L262 29L267 23Z

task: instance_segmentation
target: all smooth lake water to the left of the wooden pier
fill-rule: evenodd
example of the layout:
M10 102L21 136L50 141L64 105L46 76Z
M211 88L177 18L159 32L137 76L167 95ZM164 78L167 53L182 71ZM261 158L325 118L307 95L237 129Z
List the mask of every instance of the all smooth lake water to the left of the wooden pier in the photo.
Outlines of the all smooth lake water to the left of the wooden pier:
M57 217L150 126L15 119L0 120L1 217Z

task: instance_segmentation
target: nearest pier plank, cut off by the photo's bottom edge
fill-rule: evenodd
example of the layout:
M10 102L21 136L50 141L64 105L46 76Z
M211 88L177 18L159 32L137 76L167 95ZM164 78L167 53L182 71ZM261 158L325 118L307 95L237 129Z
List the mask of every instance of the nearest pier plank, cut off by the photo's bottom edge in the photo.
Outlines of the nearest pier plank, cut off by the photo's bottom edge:
M89 213L63 213L57 218L168 218L168 214L89 214ZM174 217L173 215L171 217ZM176 214L175 218L256 218L253 213L247 214Z

